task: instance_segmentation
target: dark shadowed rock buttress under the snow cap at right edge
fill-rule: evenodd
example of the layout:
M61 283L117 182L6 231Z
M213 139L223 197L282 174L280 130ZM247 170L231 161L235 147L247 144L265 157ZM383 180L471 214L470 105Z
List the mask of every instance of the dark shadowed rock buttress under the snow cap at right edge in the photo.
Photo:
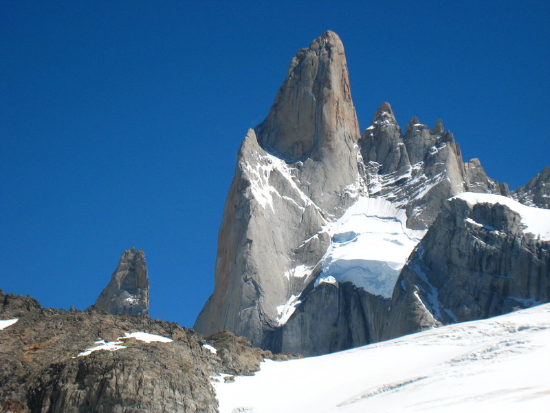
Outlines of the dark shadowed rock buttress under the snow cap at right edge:
M550 239L528 230L505 204L445 201L401 271L384 338L550 301Z

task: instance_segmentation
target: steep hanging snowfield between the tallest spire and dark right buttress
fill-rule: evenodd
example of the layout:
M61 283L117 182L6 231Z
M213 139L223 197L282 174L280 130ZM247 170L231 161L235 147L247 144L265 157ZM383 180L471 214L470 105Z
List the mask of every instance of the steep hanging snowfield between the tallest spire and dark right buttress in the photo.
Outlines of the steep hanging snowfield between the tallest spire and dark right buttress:
M327 230L332 244L323 257L321 282L352 282L390 298L399 271L426 231L406 227L404 209L384 198L360 197Z

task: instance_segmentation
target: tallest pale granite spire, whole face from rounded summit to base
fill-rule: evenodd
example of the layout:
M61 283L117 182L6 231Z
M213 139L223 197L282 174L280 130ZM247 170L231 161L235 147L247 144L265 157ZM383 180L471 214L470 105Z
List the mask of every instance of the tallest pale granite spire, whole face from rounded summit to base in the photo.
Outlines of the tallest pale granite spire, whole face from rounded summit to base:
M305 288L330 243L322 226L351 202L358 138L342 42L326 32L298 51L270 114L239 149L197 330L259 346L278 326L278 306Z

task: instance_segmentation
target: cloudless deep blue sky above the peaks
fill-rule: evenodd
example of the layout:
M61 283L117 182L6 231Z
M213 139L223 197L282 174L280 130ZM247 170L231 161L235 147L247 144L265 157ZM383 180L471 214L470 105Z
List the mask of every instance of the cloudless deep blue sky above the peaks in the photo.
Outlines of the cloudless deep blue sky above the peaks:
M86 308L136 246L151 316L192 326L241 140L328 29L362 128L388 100L512 188L550 164L547 1L273 5L0 4L0 288Z

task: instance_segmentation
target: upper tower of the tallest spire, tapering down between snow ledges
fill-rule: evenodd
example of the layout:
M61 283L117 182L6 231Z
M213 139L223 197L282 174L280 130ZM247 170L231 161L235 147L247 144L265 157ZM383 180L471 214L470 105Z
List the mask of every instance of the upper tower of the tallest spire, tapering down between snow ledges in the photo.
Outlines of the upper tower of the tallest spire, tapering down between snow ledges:
M302 161L297 181L325 211L342 207L342 189L357 179L359 126L351 100L344 46L328 31L298 50L270 114L256 127L260 145Z

